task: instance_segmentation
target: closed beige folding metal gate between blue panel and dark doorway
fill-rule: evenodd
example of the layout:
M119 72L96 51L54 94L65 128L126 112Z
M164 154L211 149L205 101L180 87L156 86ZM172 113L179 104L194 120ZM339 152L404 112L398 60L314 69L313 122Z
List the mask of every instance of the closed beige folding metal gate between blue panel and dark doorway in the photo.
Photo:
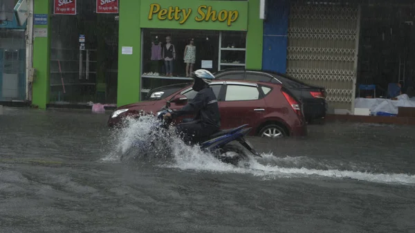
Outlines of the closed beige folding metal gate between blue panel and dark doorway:
M291 3L287 74L324 86L330 109L353 110L358 6Z

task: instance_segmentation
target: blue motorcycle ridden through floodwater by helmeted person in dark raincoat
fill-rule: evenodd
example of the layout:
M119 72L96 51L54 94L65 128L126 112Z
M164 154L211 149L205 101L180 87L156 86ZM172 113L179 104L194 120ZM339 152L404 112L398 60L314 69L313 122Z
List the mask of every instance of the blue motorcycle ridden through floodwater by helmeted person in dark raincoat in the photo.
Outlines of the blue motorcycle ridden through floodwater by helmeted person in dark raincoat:
M172 113L170 104L172 102L179 102L187 100L184 95L174 96L172 99L166 102L165 106L157 113L157 123L151 127L151 136L146 140L137 140L133 143L133 148L138 149L140 155L144 153L159 154L160 151L169 153L166 151L166 145L169 145L168 137L160 137L160 134L168 134L168 129L172 124L172 120L164 118L166 113ZM202 151L212 153L215 158L222 162L238 166L241 161L248 162L249 154L261 158L262 156L252 147L250 142L246 140L245 136L252 130L248 127L248 124L243 124L234 129L226 129L217 131L211 136L199 142L199 147ZM230 145L230 142L238 142L237 145ZM160 147L161 145L161 147ZM246 149L250 153L246 153L243 149ZM248 165L245 165L247 167Z

